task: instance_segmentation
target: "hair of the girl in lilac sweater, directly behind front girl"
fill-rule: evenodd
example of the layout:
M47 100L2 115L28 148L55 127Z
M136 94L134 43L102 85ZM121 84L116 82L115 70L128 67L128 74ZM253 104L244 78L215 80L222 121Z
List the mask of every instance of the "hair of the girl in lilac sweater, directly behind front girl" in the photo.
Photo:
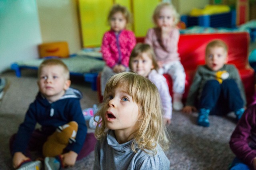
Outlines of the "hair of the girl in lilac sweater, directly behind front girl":
M154 69L158 70L156 55L153 49L150 47L150 45L144 43L137 43L132 50L132 53L130 55L129 67L132 68L132 58L138 57L138 55L141 55L142 53L146 53L148 55L148 57L152 60Z

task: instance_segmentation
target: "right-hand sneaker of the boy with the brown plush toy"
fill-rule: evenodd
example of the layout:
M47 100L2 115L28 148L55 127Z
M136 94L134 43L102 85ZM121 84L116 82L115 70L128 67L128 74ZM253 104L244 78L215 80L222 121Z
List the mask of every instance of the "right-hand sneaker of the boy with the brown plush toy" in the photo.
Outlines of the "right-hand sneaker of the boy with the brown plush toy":
M45 170L60 170L61 167L62 167L62 163L61 163L60 156L44 158Z

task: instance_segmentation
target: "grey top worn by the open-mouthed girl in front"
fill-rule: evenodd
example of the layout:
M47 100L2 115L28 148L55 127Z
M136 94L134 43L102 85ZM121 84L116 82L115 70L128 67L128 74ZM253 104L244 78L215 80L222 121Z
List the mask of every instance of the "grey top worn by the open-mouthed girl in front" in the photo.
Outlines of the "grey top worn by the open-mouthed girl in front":
M106 137L97 141L95 147L94 170L169 170L170 161L161 147L152 155L138 149L132 151L132 141L119 144L114 131L109 130ZM151 152L147 150L147 152Z

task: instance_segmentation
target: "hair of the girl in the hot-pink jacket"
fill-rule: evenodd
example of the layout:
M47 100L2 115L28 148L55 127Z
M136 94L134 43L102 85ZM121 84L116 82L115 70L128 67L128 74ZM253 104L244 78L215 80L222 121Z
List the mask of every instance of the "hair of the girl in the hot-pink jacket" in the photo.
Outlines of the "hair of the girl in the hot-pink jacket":
M132 15L128 11L128 9L125 6L121 6L119 4L113 5L110 9L110 12L108 13L108 23L110 23L112 16L117 12L121 12L124 15L124 18L126 19L126 25L132 23Z

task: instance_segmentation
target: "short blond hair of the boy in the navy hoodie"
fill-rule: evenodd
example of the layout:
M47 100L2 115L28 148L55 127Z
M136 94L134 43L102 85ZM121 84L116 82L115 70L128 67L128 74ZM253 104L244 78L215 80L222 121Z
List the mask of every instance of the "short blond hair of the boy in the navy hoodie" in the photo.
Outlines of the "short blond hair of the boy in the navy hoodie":
M65 76L66 80L69 80L70 75L69 75L68 66L66 66L66 64L63 63L60 59L46 59L46 60L44 60L38 68L38 78L40 78L42 68L45 67L45 66L61 66L64 69L64 76Z

